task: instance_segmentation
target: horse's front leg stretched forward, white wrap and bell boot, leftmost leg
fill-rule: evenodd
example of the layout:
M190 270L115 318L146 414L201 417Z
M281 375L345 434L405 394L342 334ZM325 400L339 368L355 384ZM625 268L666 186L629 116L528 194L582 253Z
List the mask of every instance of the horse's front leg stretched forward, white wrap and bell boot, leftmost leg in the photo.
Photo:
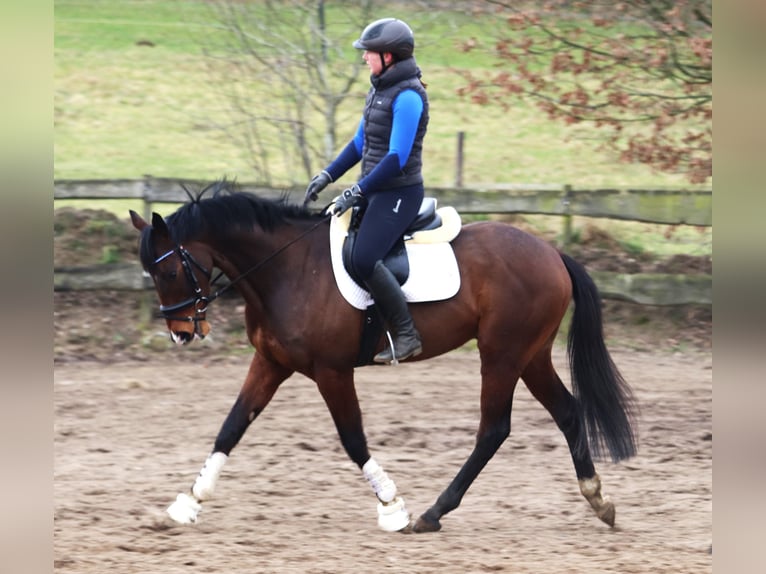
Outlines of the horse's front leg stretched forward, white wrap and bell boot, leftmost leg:
M168 509L168 515L181 524L197 521L202 502L209 500L215 491L229 453L245 434L247 427L266 408L279 385L292 375L293 371L277 365L256 353L250 363L239 396L224 420L202 470L188 493L181 493Z

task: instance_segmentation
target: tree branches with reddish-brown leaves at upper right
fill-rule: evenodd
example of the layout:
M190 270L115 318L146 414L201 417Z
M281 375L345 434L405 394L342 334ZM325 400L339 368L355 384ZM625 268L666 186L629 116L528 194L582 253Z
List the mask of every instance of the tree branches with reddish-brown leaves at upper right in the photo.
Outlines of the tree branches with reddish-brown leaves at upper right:
M551 118L600 128L623 161L692 183L712 176L712 0L487 5L507 26L463 49L490 48L499 71L465 72L462 94L480 104L532 98Z

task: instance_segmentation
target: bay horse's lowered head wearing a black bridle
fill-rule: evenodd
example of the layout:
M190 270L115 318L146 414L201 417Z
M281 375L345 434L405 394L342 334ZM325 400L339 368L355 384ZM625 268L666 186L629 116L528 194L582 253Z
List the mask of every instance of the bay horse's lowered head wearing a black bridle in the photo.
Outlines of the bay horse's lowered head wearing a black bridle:
M141 263L154 281L170 336L178 344L210 332L205 311L210 302L213 266L209 250L199 243L181 245L171 239L165 220L152 214L151 225L135 211L133 226L141 232Z

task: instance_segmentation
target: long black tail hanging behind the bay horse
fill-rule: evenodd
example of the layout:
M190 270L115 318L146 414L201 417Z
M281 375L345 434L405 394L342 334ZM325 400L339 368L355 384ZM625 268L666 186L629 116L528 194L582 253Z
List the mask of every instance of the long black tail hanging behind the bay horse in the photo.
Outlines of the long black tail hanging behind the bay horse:
M636 454L635 401L604 343L598 289L582 265L564 253L561 258L572 278L575 303L567 352L572 391L585 423L581 440L588 440L594 458L603 457L604 447L613 461L630 458Z

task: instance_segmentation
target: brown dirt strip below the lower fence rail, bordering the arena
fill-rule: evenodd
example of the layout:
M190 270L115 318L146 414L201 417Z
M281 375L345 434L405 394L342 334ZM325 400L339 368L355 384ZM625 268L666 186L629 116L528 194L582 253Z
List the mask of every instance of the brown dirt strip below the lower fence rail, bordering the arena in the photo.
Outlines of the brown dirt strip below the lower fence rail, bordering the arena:
M54 293L54 362L154 361L175 356L165 322L157 316L153 292L89 291ZM610 348L638 351L712 349L710 307L647 307L617 301L603 305L604 334ZM184 350L204 362L217 355L247 355L244 307L234 294L215 302L208 312L213 331ZM562 336L563 337L563 336ZM562 338L563 340L563 338Z

